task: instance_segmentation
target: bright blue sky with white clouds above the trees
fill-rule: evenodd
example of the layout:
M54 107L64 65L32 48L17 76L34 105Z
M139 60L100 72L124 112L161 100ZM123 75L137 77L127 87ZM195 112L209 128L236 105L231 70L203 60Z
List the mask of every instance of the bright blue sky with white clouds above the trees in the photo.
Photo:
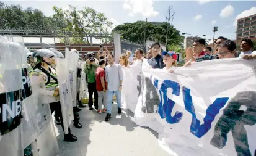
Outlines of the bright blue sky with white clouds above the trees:
M78 9L87 6L102 12L116 25L148 20L151 22L166 21L168 6L175 12L173 25L180 33L190 33L193 36L206 35L213 39L213 26L218 26L215 38L225 36L236 38L236 21L238 18L256 14L256 1L161 1L161 0L116 0L116 1L2 1L7 5L19 4L24 9L33 7L42 10L43 14L53 15L52 7L68 8L68 5ZM185 35L187 36L187 35ZM210 41L210 43L211 43Z

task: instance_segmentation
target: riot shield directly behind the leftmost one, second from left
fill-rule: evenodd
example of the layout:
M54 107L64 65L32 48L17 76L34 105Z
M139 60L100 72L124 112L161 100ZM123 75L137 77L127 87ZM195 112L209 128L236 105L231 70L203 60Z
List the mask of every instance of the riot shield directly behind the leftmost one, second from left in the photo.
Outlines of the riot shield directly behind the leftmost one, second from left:
M27 50L25 49L23 38L20 36L7 36L8 44L11 49L11 54L15 55L16 52L20 53L22 58L22 147L27 147L35 141L40 134L38 127L36 107L39 105L37 97L32 96L33 92L37 92L34 89L32 92L32 85L29 78L29 66L27 64ZM40 112L44 114L44 112ZM34 154L35 155L35 154Z

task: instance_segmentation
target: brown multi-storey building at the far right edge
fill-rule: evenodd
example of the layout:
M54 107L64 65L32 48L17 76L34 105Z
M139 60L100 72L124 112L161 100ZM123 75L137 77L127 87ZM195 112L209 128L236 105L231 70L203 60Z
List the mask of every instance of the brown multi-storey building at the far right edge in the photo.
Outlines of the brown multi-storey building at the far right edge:
M247 38L256 40L256 14L237 20L237 43L240 43L242 39Z

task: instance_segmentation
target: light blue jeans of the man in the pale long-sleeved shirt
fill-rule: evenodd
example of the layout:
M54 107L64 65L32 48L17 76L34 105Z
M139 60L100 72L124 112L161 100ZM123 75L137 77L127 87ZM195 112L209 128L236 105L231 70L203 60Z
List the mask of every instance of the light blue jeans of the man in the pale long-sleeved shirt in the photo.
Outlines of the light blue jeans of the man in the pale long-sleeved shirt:
M107 91L107 113L112 111L113 96L117 97L117 108L121 108L121 92L118 91Z

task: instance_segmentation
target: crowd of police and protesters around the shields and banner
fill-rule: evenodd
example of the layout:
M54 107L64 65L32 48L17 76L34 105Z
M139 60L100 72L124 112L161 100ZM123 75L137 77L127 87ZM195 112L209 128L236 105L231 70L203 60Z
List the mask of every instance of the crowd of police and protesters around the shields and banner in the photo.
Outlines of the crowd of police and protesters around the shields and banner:
M192 49L187 49L185 58L185 67L193 65L193 62L201 62L213 59L226 59L240 57L242 59L256 59L256 52L250 39L243 39L241 42L241 53L237 53L236 43L224 37L216 39L214 50L205 46L205 39L196 39ZM75 50L75 49L74 49ZM77 52L77 51L74 51ZM55 112L55 123L63 127L63 118L61 114L61 103L58 91L58 80L56 78L55 57L63 58L61 52L56 49L40 49L33 52L28 57L30 65L30 75L43 75L45 80L48 101L50 102L51 113ZM100 47L99 52L95 55L89 52L81 56L84 61L83 66L80 64L78 75L81 72L86 74L87 88L89 93L88 106L89 110L97 110L99 114L106 113L105 121L112 117L113 95L117 98L117 113L121 114L121 91L123 89L124 68L142 65L144 61L148 62L152 69L162 69L164 72L174 73L179 68L177 64L177 54L174 51L162 51L159 43L152 44L149 51L144 53L143 49L136 49L134 57L131 52L126 51L119 58L119 64L115 63L115 56L109 52L107 47ZM79 77L79 76L78 76ZM78 94L78 92L77 92ZM82 128L79 123L80 108L86 107L82 104L79 96L77 97L78 107L74 110L74 126ZM80 107L80 108L79 108ZM63 128L64 130L64 128ZM68 128L68 134L64 135L65 141L76 141L76 136L71 134Z

